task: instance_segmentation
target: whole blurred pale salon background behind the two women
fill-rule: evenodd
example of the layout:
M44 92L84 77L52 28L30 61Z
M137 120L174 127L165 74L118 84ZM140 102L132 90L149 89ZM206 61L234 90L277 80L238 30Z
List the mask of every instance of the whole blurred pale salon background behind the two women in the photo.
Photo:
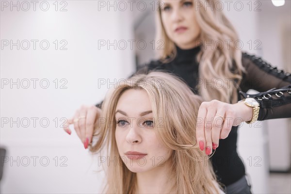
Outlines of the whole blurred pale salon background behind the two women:
M291 72L290 0L221 2L242 50ZM155 40L157 1L0 4L0 192L101 193L98 156L62 126L82 104L97 104L118 79L155 59L162 47ZM290 129L290 118L239 129L253 193L291 193Z

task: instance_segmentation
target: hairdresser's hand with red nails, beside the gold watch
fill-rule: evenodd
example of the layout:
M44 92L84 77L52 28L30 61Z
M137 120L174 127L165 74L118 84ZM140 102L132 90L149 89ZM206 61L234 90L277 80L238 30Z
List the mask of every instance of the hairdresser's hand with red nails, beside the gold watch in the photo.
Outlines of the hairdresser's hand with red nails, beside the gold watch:
M228 104L218 100L202 102L197 115L196 138L201 151L207 155L219 146L219 139L225 139L232 126L252 118L253 110L243 102Z

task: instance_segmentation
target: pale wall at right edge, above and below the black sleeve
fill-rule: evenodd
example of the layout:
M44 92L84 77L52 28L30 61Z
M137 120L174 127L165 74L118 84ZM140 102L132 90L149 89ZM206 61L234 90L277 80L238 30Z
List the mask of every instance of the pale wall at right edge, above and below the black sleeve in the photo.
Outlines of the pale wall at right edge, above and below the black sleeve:
M260 34L262 57L278 69L291 72L291 1L287 0L282 7L274 7L268 1L262 6L259 15L259 28L263 32ZM266 123L270 169L287 171L291 165L291 119L274 119Z

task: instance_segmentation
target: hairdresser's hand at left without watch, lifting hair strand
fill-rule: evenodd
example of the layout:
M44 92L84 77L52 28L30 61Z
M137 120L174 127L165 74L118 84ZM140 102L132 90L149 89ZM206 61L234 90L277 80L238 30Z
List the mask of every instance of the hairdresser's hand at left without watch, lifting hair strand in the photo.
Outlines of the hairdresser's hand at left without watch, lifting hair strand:
M76 130L77 135L84 144L85 149L87 149L88 144L92 141L94 124L100 114L101 109L94 105L81 106L81 108L75 112L75 115L67 120L65 123L65 126L67 127L64 127L64 130L68 134L71 134L69 125L74 124L74 129Z

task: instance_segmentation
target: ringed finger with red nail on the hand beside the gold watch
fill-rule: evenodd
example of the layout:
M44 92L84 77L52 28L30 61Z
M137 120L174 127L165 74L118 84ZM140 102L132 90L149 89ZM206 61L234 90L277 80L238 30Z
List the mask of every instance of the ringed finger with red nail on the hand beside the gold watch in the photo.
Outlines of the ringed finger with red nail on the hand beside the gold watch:
M225 111L219 110L218 112L216 112L213 119L212 149L216 149L219 146L219 138L224 121L225 121Z

